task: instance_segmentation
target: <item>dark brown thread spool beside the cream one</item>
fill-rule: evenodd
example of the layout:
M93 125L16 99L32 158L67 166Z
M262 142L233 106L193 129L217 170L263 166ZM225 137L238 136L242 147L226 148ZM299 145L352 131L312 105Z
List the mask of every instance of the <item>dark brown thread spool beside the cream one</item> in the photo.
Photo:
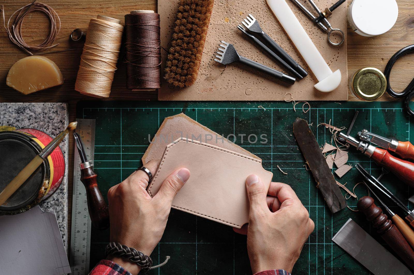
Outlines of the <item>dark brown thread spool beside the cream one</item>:
M159 14L133 10L125 15L127 88L154 91L161 87Z

